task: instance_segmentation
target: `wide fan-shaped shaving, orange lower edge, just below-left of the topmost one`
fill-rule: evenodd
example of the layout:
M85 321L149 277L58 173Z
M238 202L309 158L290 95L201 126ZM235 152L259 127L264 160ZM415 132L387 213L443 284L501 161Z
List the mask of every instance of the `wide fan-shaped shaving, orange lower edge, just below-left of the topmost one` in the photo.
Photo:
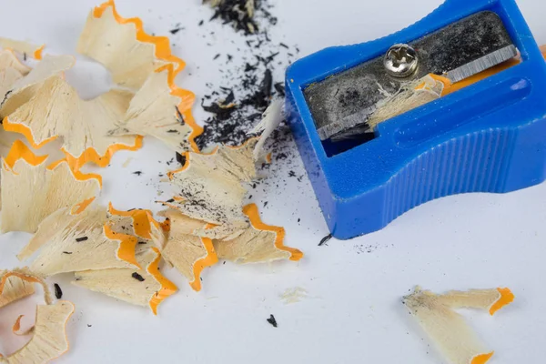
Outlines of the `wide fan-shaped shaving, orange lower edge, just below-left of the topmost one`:
M117 151L142 147L141 136L107 136L124 117L131 97L126 91L111 90L82 100L62 77L51 76L26 103L5 117L4 127L23 134L35 148L60 137L61 150L74 170L86 163L106 167Z

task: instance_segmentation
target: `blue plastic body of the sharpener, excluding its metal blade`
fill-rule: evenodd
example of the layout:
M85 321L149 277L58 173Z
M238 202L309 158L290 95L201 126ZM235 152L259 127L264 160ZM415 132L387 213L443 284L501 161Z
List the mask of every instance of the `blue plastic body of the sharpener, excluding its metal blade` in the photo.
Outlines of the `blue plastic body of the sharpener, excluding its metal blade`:
M321 140L308 86L483 11L499 15L519 65L393 117L354 146ZM546 63L514 0L448 0L399 33L303 58L286 78L288 121L335 238L377 231L435 198L507 193L545 179Z

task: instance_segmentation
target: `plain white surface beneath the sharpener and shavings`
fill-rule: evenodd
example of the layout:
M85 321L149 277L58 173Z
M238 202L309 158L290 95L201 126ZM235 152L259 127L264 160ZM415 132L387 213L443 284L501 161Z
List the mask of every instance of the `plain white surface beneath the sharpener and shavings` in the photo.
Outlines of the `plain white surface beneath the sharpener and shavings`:
M274 0L271 0L274 1ZM174 52L187 61L178 85L202 96L215 82L217 53L229 52L226 40L241 41L227 26L205 23L212 14L201 0L118 0L121 15L140 16L150 32L168 35L176 23L185 31L172 36ZM427 15L440 0L278 0L279 23L271 36L298 44L305 56L329 45L371 40L397 31ZM520 0L521 10L541 44L546 44L546 5ZM45 43L47 51L74 54L92 0L1 0L0 35ZM212 47L205 30L217 35ZM231 53L233 50L231 49ZM197 68L198 66L198 68ZM189 76L191 74L191 76ZM82 96L107 89L106 72L82 61L68 75ZM277 75L278 76L278 75ZM206 116L195 107L197 120ZM133 159L122 167L128 157ZM161 186L157 174L171 153L154 140L137 153L121 152L103 171L103 202L117 208L154 208ZM302 173L300 166L291 166ZM286 168L285 168L286 169ZM284 177L288 169L280 168ZM131 173L142 170L142 177ZM491 363L541 363L546 348L546 186L510 195L467 195L443 198L416 208L375 234L317 247L327 228L308 181L288 178L287 187L259 190L253 197L264 220L287 228L289 246L301 248L299 263L235 266L230 263L203 273L203 290L193 292L176 271L167 271L180 292L167 299L154 317L137 308L69 285L54 278L65 298L76 304L68 324L71 350L61 363L440 363L442 359L412 321L400 298L420 285L434 291L510 287L517 300L494 318L464 312L480 337L494 349ZM274 185L275 183L273 183ZM167 192L168 194L168 192ZM298 223L298 218L301 219ZM15 253L28 236L0 238L0 267L13 268ZM308 294L286 305L288 288ZM25 302L32 311L32 302ZM0 316L5 353L21 341L8 331L20 308ZM278 329L266 319L274 314ZM25 320L24 320L25 323Z

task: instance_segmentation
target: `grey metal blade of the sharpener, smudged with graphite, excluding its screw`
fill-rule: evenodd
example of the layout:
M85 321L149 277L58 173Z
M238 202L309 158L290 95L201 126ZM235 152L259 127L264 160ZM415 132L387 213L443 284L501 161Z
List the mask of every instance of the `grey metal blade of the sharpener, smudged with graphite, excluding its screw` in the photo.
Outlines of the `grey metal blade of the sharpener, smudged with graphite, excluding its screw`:
M429 74L447 76L455 83L518 55L501 18L489 11L470 15L409 45L419 56L412 76L389 76L384 56L379 56L306 87L304 94L321 140L373 133L367 125L369 116L405 83Z

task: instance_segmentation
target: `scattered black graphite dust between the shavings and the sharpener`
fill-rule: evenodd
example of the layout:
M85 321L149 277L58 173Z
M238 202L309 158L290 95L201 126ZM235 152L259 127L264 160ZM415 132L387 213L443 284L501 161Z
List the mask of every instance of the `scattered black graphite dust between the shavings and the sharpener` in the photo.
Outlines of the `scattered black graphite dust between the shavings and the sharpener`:
M215 6L213 19L221 18L227 24L232 24L238 30L243 30L246 46L238 48L238 56L242 56L244 66L228 66L220 85L208 85L213 91L205 96L209 106L204 109L214 114L207 119L205 130L197 137L197 145L201 149L216 144L238 146L248 137L248 132L261 119L274 92L284 97L282 83L273 82L273 71L277 66L286 67L298 53L295 47L293 53L288 45L278 45L269 37L269 28L277 24L277 18L270 10L274 2L268 0L211 0ZM249 5L252 4L252 5ZM248 29L248 8L252 11L252 29ZM282 52L279 50L282 48ZM282 59L281 59L282 57ZM227 56L226 64L232 58ZM283 69L284 71L284 69ZM283 72L284 73L284 72ZM275 85L275 86L274 86ZM282 90L282 92L279 92ZM215 105L231 98L226 104L233 104L229 110L219 110ZM210 107L214 108L210 108Z

